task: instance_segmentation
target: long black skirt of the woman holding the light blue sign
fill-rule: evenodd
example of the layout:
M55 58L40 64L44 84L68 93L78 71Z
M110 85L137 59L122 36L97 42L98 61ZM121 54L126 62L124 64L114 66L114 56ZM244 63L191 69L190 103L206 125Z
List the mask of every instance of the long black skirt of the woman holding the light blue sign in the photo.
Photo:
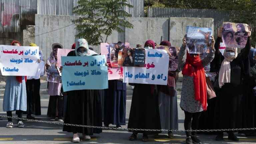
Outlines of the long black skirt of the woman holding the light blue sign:
M75 90L67 92L64 123L102 126L102 108L99 90ZM64 125L63 131L93 135L102 129Z

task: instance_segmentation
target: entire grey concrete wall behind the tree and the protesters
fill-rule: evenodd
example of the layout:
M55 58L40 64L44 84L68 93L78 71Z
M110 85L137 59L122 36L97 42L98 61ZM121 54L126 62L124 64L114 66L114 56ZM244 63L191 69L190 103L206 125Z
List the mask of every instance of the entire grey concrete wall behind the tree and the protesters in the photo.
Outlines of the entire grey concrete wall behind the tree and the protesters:
M53 43L60 43L67 49L71 48L71 45L75 42L77 32L75 25L68 25L72 24L72 20L77 18L77 16L35 16L35 43L43 51L45 58L49 57ZM146 40L152 39L157 44L160 44L163 40L170 40L173 46L181 46L182 38L186 34L187 25L212 27L212 29L214 26L212 18L126 18L126 20L131 22L134 28L125 28L124 33L113 31L112 35L108 37L107 42L129 42L132 47L135 47L138 43L144 45ZM24 32L27 31L24 30ZM23 34L24 37L28 37L25 33ZM31 33L27 33L27 35L31 35ZM105 41L105 37L103 38ZM33 40L31 39L30 41ZM93 47L95 52L100 53L99 46L90 47Z

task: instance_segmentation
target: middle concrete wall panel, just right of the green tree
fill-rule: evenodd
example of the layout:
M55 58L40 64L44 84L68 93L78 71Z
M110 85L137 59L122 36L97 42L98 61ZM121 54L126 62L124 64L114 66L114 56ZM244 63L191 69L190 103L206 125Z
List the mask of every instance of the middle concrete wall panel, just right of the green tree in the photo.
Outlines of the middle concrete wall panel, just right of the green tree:
M126 18L134 25L133 29L125 29L125 41L131 46L154 40L160 44L162 40L169 40L169 18Z

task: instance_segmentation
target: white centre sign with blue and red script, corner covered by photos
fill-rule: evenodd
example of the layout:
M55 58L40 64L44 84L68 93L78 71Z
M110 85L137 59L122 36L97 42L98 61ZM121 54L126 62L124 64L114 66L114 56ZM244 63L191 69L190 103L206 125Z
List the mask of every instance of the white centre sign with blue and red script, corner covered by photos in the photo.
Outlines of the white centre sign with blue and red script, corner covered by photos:
M145 49L144 68L123 67L125 83L167 85L169 55L165 50Z

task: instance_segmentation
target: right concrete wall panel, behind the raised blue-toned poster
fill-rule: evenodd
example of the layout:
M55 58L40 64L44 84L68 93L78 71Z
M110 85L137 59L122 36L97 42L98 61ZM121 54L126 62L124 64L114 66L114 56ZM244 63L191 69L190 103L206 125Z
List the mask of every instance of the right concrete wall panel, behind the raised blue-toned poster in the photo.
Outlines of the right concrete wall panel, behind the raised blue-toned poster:
M211 27L214 33L214 19L213 18L181 18L171 17L169 35L172 46L180 47L182 39L186 34L187 26L195 27Z

